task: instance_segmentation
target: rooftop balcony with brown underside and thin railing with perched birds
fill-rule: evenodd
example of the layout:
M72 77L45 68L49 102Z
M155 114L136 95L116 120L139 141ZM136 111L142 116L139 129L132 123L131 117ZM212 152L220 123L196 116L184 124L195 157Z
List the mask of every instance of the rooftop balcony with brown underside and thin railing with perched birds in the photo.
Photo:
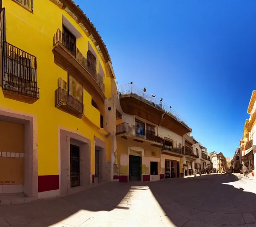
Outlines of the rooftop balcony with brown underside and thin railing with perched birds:
M120 105L124 113L142 117L181 136L191 132L180 115L165 105L163 99L158 100L145 91L145 89L141 90L133 84L119 87Z

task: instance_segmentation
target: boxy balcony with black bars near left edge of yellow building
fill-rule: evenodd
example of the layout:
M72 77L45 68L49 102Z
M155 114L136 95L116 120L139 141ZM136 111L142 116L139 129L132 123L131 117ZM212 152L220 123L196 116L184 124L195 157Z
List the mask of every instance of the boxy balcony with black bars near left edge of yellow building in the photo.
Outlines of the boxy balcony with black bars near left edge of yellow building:
M2 90L4 97L33 103L39 99L36 80L36 57L3 43Z

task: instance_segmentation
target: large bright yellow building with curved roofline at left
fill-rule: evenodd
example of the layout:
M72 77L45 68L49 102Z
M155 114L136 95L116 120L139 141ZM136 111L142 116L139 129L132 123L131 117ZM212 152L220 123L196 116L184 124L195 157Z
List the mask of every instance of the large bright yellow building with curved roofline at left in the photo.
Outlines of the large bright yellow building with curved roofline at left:
M96 28L72 0L0 2L0 193L112 180L117 91Z

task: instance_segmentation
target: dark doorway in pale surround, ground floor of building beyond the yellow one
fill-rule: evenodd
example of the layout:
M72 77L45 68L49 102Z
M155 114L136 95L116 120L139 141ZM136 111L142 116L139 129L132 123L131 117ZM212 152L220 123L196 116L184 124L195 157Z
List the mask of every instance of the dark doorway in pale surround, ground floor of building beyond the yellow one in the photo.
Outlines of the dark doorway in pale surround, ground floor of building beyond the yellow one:
M129 156L129 180L141 180L141 157Z

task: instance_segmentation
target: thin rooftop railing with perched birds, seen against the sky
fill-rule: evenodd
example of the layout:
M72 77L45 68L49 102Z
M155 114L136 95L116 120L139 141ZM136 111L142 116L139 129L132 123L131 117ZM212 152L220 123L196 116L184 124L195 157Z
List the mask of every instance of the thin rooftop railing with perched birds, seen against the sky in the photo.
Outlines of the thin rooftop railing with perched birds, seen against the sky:
M137 86L131 83L125 84L123 86L119 86L118 95L120 99L127 96L132 96L134 98L137 98L142 102L145 102L148 105L153 106L156 109L165 112L166 114L176 119L176 121L179 121L180 123L185 125L188 129L190 129L188 125L184 122L184 120L181 119L180 115L175 110L173 110L170 106L167 106L163 102L163 99L158 100L152 94L146 93L144 90L138 88Z

